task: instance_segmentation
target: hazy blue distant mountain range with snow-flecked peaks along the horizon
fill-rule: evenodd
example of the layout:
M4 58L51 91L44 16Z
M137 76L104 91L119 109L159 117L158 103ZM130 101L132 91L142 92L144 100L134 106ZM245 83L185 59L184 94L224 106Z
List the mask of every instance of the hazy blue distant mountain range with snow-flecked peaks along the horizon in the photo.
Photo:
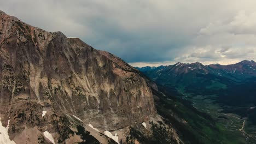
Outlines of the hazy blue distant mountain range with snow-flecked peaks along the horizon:
M166 81L166 79L176 79L181 80L177 77L186 77L190 78L196 76L197 74L211 74L216 76L227 77L231 80L245 80L250 77L256 76L256 62L252 61L241 61L236 64L229 65L220 65L220 64L210 64L203 65L199 62L195 63L176 63L173 65L159 66L159 67L142 67L138 68L144 74L150 77L154 81ZM173 81L173 85L177 84ZM190 83L190 82L189 82Z

